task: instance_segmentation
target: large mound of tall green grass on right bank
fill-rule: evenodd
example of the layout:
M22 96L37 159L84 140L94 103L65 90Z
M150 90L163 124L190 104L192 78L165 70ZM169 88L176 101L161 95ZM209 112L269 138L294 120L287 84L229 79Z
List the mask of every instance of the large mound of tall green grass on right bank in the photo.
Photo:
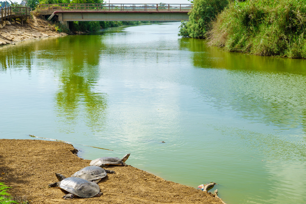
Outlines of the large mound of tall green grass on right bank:
M304 0L232 2L212 22L209 44L226 51L306 58Z

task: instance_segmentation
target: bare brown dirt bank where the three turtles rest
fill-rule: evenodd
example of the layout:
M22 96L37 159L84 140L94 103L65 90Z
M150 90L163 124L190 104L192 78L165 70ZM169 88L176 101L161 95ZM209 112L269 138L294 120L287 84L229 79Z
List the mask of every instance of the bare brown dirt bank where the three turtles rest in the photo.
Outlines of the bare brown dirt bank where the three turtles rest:
M109 166L114 174L107 174L98 184L100 197L64 200L56 182L55 172L71 176L88 166L75 154L71 144L31 139L0 139L0 182L12 187L7 192L15 200L28 203L213 203L221 199L211 193L166 181L129 165ZM132 155L130 156L132 157Z

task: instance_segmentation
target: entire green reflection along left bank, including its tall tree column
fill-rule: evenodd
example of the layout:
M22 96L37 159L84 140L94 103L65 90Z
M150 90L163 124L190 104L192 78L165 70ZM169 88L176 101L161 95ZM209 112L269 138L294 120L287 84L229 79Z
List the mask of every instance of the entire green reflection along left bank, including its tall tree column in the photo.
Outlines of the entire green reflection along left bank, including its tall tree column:
M95 86L99 79L101 35L75 35L17 43L0 48L0 73L35 69L40 75L55 73L59 90L55 94L61 120L77 123L78 118L94 127L104 123L105 93ZM63 118L64 117L64 118Z

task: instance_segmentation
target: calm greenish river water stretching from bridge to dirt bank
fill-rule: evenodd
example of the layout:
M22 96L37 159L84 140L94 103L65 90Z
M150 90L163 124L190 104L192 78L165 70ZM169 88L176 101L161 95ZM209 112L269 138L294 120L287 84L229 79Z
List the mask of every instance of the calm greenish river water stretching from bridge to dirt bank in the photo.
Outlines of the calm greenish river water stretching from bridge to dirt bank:
M166 180L220 184L228 204L306 203L306 61L226 53L179 25L1 47L0 138L131 153Z

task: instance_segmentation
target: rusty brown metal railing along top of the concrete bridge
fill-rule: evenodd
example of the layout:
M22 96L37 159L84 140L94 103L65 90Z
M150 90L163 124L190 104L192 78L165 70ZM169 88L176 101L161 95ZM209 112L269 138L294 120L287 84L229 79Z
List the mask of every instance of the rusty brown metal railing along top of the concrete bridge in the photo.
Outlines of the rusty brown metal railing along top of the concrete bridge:
M39 4L39 10L191 11L192 4Z

